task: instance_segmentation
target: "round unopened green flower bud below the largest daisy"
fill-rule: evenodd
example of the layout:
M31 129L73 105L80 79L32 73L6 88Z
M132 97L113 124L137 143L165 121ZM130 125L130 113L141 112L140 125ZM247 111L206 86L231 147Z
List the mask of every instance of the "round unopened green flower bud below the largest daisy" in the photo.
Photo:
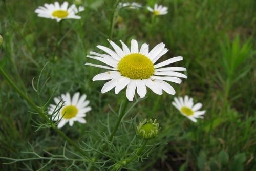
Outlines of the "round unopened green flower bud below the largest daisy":
M159 130L159 123L157 123L156 119L154 122L152 119L145 119L137 126L138 134L144 139L152 139L157 137Z

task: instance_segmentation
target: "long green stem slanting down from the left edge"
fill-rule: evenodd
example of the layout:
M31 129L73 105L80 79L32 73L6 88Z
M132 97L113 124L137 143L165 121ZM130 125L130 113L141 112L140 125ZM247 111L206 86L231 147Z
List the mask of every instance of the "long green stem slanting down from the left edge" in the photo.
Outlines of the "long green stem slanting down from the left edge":
M60 131L56 125L54 125L50 119L44 114L44 111L42 111L41 108L39 108L27 95L25 95L16 85L15 83L9 78L9 76L5 73L5 71L0 67L0 73L5 77L7 82L10 84L10 86L20 95L22 98L24 98L27 103L34 108L34 110L42 117L44 118L51 127L68 143L70 143L78 152L80 152L83 156L86 156L86 154L82 151L81 148L78 147L78 145L72 141L68 136L66 136L62 131Z

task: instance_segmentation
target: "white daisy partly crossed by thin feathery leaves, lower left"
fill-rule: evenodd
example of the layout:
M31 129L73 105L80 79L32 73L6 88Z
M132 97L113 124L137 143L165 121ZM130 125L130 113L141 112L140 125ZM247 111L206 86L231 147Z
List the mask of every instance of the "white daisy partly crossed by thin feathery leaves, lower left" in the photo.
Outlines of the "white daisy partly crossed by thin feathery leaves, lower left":
M91 111L92 108L88 106L90 101L86 100L85 94L80 98L79 96L79 92L75 93L72 98L69 93L66 93L53 99L55 104L50 104L48 114L53 115L52 118L54 121L59 121L58 128L63 127L68 122L70 126L73 126L74 121L86 123L83 117L85 117L86 113ZM59 104L62 104L62 107L58 111Z

